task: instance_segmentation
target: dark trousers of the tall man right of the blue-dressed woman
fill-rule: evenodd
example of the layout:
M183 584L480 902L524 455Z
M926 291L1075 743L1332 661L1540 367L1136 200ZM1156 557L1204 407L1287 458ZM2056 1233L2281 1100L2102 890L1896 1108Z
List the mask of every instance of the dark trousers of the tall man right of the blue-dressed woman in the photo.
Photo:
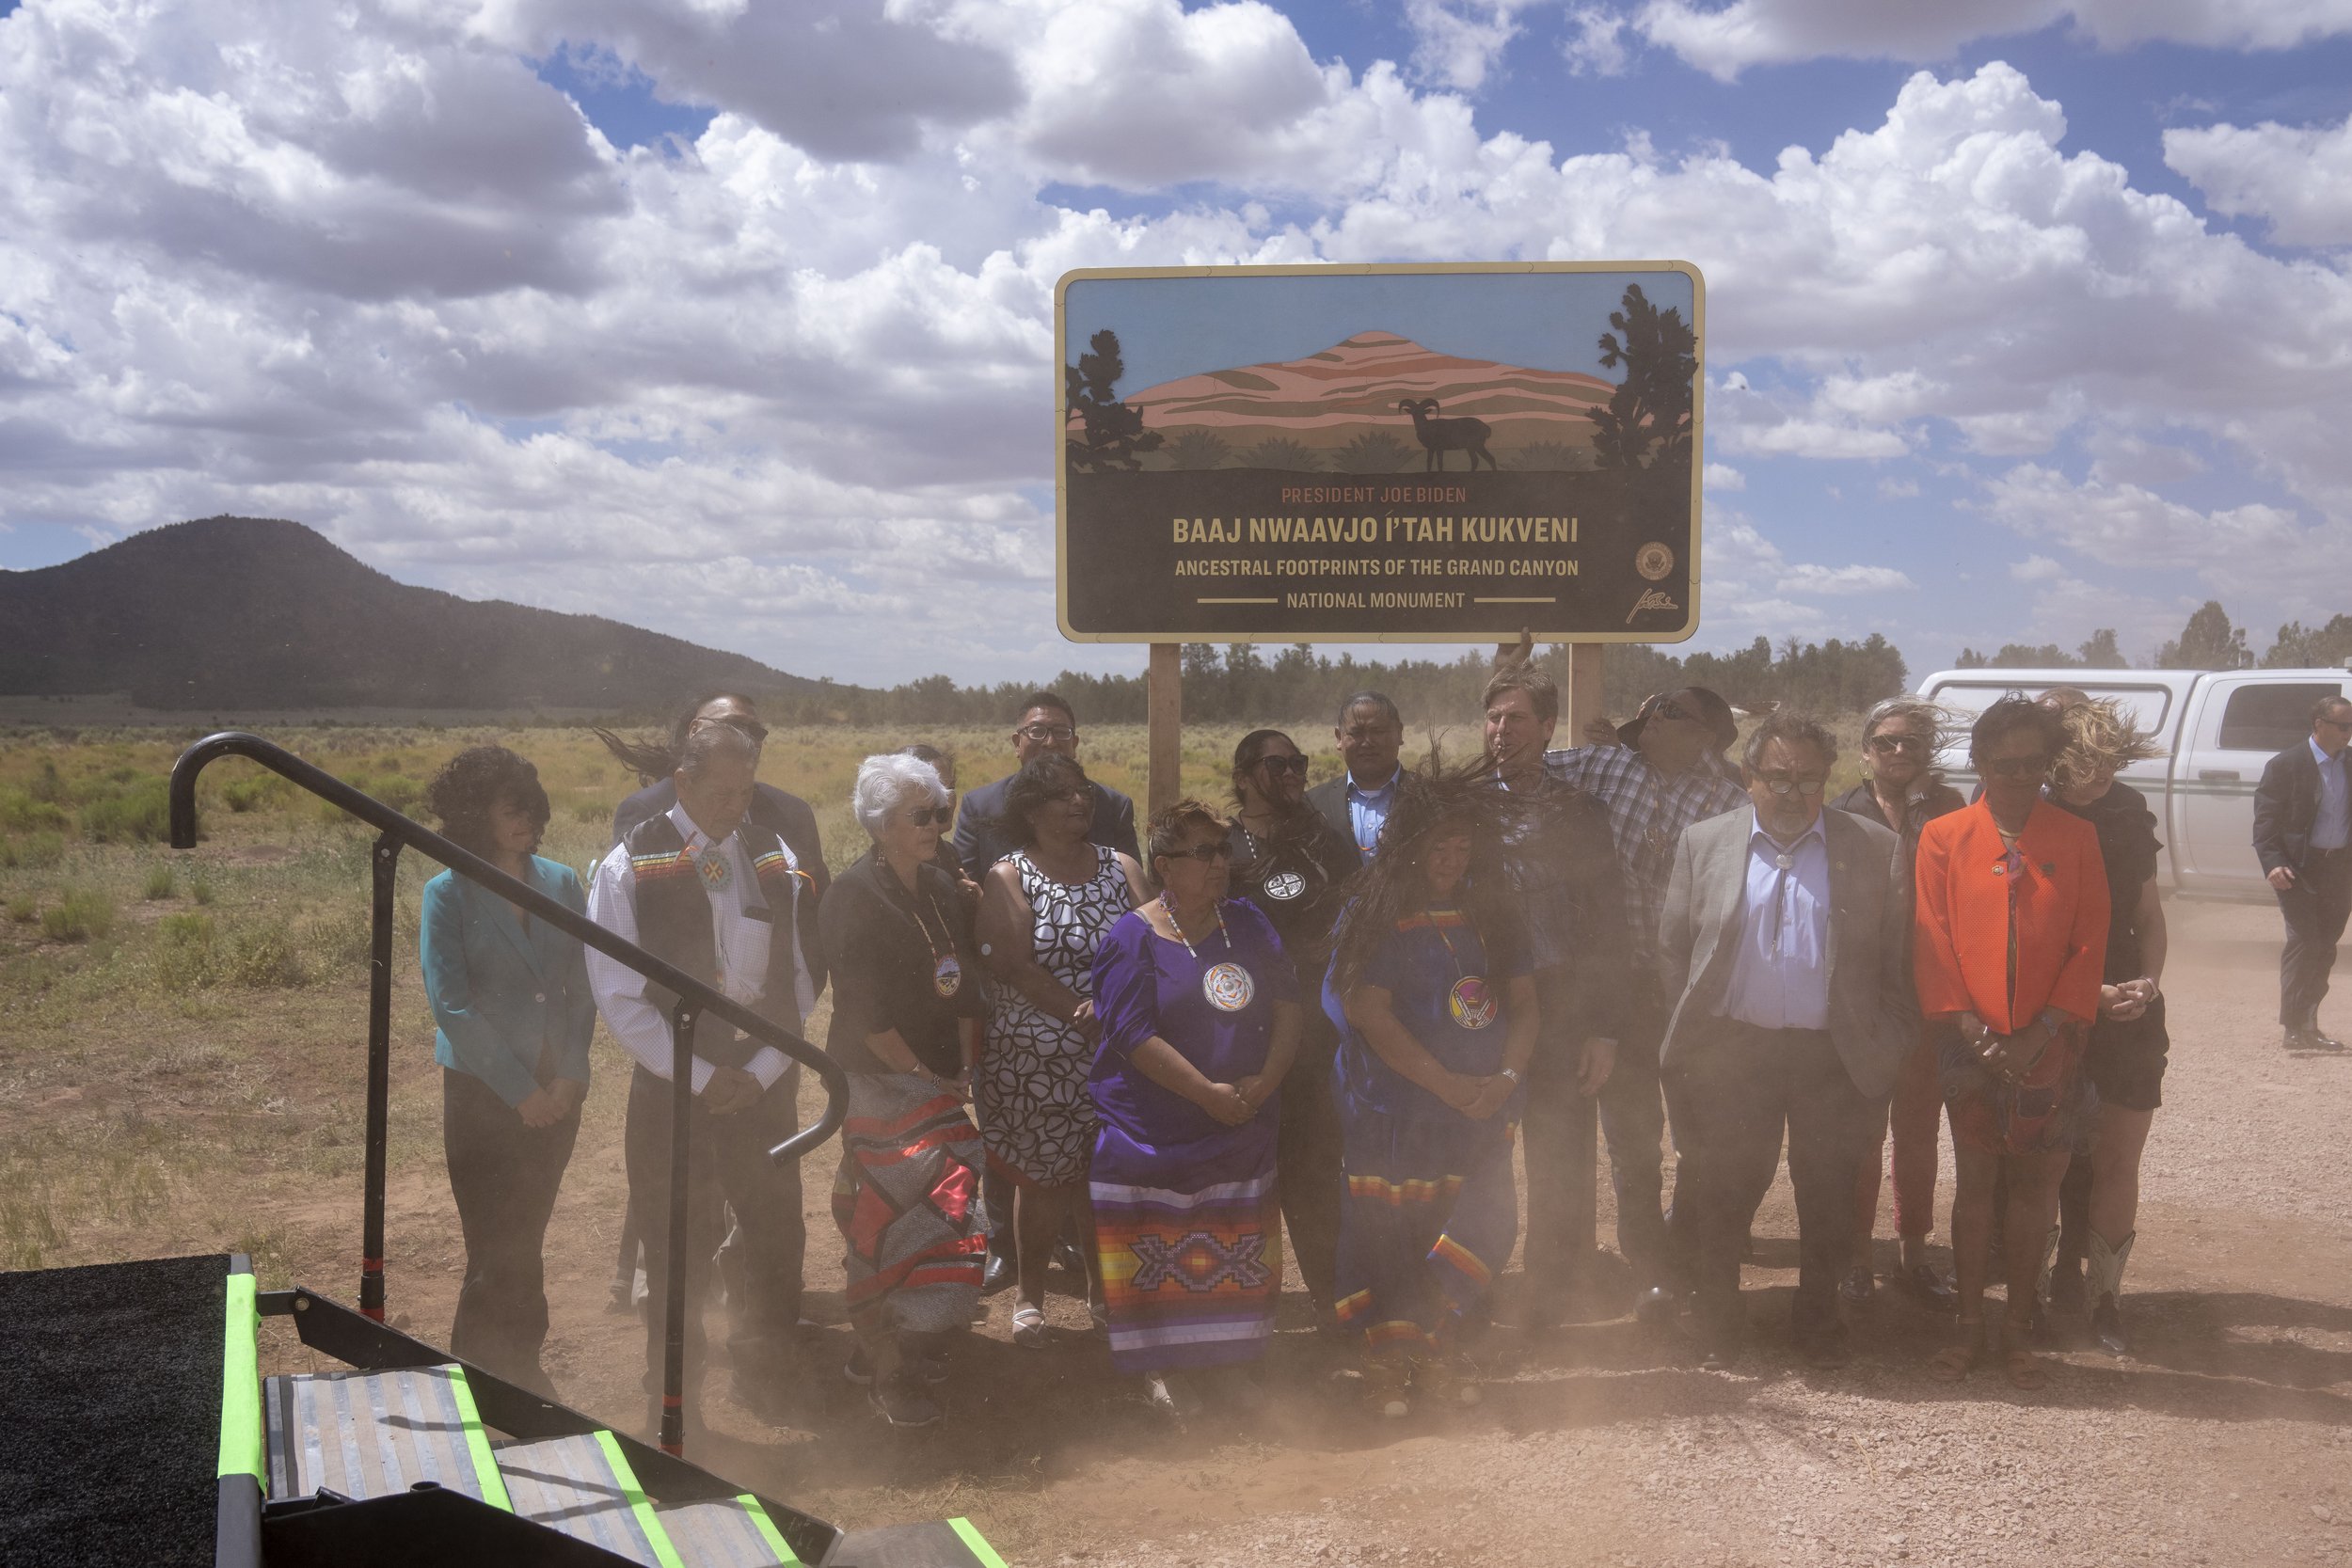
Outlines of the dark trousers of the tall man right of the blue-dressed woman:
M1576 1088L1585 1027L1557 969L1536 973L1543 1034L1526 1065L1526 1316L1557 1321L1566 1291L1592 1260L1599 1157L1599 1103ZM1651 1079L1656 1093L1656 1077Z

